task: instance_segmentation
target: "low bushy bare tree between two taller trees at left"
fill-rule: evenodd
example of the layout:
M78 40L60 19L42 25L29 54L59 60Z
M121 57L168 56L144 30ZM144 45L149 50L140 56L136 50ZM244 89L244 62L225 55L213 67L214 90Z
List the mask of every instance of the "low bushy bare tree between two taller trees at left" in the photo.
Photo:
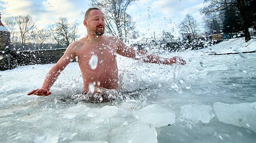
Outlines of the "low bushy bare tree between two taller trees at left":
M42 47L43 42L50 37L50 32L47 29L39 29L31 32L31 36L35 44L40 44Z

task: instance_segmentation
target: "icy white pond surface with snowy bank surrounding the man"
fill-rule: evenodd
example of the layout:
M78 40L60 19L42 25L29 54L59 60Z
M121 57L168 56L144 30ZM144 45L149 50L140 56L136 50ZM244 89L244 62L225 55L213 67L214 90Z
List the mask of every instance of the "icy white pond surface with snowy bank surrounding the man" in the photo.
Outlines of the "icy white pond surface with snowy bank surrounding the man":
M48 65L0 72L0 142L46 143L255 143L255 40L221 42L179 55L187 65L140 63L118 56L121 90L138 94L117 103L66 99L80 94L82 77L70 63L48 97L41 87Z

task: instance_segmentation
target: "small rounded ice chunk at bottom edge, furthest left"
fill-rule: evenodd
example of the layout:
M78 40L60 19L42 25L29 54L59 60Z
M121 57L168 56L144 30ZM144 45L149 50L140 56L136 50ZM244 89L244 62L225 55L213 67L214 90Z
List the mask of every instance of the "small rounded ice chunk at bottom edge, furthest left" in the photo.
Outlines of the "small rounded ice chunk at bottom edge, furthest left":
M35 143L57 143L59 140L58 132L50 129L44 129L36 134Z

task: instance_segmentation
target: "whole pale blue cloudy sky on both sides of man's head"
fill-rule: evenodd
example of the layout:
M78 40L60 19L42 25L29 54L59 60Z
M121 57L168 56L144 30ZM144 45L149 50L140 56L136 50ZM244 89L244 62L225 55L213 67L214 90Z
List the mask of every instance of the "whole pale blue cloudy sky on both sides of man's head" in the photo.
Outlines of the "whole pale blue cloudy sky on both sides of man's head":
M186 14L191 14L204 32L202 15L199 9L204 0L137 0L128 6L127 13L132 16L141 38L159 37L163 30L179 36L179 23ZM90 0L0 0L2 22L15 16L31 15L38 29L46 28L59 17L67 17L72 22L78 20L80 38L87 33L83 25L82 12L90 8Z

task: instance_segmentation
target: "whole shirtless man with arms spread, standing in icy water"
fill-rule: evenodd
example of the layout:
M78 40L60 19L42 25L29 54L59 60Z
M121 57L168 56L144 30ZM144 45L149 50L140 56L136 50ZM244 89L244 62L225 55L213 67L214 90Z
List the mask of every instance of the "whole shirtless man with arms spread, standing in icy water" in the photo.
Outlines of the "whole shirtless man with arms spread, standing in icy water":
M89 8L85 13L84 25L87 29L87 36L78 41L72 42L66 49L64 55L48 72L43 86L28 93L28 95L48 96L50 88L56 81L61 71L77 56L83 78L83 92L88 93L89 85L94 83L95 87L117 89L118 69L116 54L133 59L142 59L148 63L172 64L176 63L176 57L162 58L138 50L135 51L124 44L119 38L104 36L105 19L104 14L98 8ZM140 58L136 55L140 55ZM92 67L90 59L98 57L98 65ZM186 62L179 60L181 64Z

